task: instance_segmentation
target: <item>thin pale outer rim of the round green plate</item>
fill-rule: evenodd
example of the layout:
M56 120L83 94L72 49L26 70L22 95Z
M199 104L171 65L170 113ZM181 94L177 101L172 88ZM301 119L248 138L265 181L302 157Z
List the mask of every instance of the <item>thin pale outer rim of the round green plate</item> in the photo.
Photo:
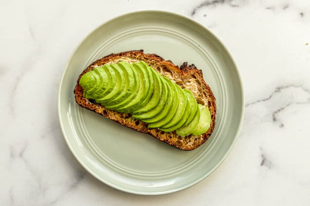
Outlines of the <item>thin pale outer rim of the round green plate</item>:
M82 161L81 159L78 157L77 153L74 151L74 149L71 147L71 145L69 144L69 140L68 138L66 137L65 135L65 131L64 131L64 127L63 127L63 122L62 122L62 119L60 118L61 117L61 114L60 114L60 90L61 90L61 87L62 87L62 83L63 83L63 80L64 80L64 74L66 73L67 69L68 69L68 66L69 66L69 62L71 61L71 59L73 58L73 55L76 53L76 51L78 50L78 48L80 47L80 45L89 37L91 36L91 34L93 32L95 32L97 29L99 29L100 27L102 27L104 24L110 22L110 21L113 21L114 19L117 19L117 18L121 18L123 16L126 16L126 15L130 15L130 14L134 14L134 13L144 13L144 12L162 12L162 13L168 13L170 15L175 15L175 16L178 16L178 17L181 17L181 18L185 18L187 20L190 20L192 21L193 23L196 23L198 24L199 26L201 26L202 28L204 28L205 30L207 30L208 32L210 32L211 35L213 35L215 37L215 39L223 46L223 48L225 49L225 51L227 52L228 56L230 57L230 59L232 60L232 64L234 65L234 67L236 68L236 74L237 74L237 77L239 78L240 80L240 92L241 92L241 117L240 117L240 120L239 120L239 126L238 126L238 129L237 129L237 133L234 137L234 140L232 141L232 144L230 145L230 147L228 148L227 152L225 153L225 155L223 156L223 158L218 162L218 164L213 167L208 173L204 174L203 176L201 176L201 178L197 179L196 181L192 182L192 183L189 183L183 187L179 187L179 188L175 188L175 189L172 189L172 190L166 190L166 191L160 191L160 192L139 192L139 191L135 191L135 190L130 190L130 189L125 189L123 187L120 187L118 185L115 185L113 183L110 183L108 181L106 181L105 179L102 179L100 176L98 176L97 174L95 174L95 172L93 172L90 168L88 168L88 166L86 166ZM239 137L239 134L240 134L240 131L241 131L241 127L242 127L242 124L243 124L243 119L244 119L244 110L245 110L245 100L244 100L244 88L243 88L243 83L242 83L242 79L241 79L241 75L240 75L240 72L239 72L239 69L237 67L237 64L234 60L234 58L232 57L230 51L228 50L228 48L225 46L225 44L223 43L223 41L217 36L215 35L215 33L213 33L208 27L206 27L205 25L203 25L202 23L198 22L197 20L193 19L193 18L190 18L186 15L183 15L183 14L180 14L180 13L177 13L177 12L173 12L173 11L168 11L168 10L161 10L161 9L142 9L142 10L135 10L135 11L130 11L130 12L126 12L126 13L123 13L121 15L117 15L111 19L108 19L106 21L104 21L103 23L101 23L100 25L98 25L97 27L95 27L93 30L91 30L91 32L89 32L82 40L80 40L79 44L75 47L75 49L73 50L73 52L71 53L66 65L64 66L64 70L62 72L62 75L61 75L61 78L60 78L60 82L59 82L59 87L58 87L58 94L57 94L57 110L58 110L58 119L59 119L59 124L60 124L60 129L61 129L61 132L63 134L63 137L71 151L71 153L73 154L73 156L78 160L78 162L87 170L87 172L89 172L91 175L93 175L96 179L100 180L102 183L110 186L110 187L113 187L115 189L118 189L118 190L121 190L121 191L124 191L124 192L128 192L128 193L131 193L131 194L136 194L136 195L164 195L164 194L170 194L170 193L174 193L174 192L177 192L177 191L182 191L184 189L187 189L189 187L192 187L194 185L196 185L197 183L201 182L202 180L206 179L206 177L208 177L210 174L212 174L223 162L224 160L227 158L228 154L230 153L233 145L235 144L235 142L237 141L237 138Z

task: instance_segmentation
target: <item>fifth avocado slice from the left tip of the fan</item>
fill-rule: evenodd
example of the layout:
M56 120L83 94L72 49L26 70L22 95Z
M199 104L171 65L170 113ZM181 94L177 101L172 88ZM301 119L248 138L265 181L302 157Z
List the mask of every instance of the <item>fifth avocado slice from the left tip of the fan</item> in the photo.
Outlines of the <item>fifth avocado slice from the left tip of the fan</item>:
M117 64L111 64L110 66L112 67L112 69L115 72L116 83L115 83L115 87L111 91L111 93L109 93L108 95L106 95L103 98L95 99L96 102L101 103L102 105L104 105L105 102L108 102L108 101L115 99L118 95L120 95L122 93L122 91L125 87L125 77L124 77L123 70Z

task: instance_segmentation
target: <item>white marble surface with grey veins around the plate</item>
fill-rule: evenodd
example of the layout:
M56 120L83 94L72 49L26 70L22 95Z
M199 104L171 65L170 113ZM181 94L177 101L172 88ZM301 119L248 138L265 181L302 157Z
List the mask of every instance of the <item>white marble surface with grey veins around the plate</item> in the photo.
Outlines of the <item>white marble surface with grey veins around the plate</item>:
M58 83L73 49L104 21L140 9L179 12L211 28L245 90L243 127L228 158L169 195L132 195L97 181L58 122ZM1 1L0 55L0 205L310 204L308 0Z

